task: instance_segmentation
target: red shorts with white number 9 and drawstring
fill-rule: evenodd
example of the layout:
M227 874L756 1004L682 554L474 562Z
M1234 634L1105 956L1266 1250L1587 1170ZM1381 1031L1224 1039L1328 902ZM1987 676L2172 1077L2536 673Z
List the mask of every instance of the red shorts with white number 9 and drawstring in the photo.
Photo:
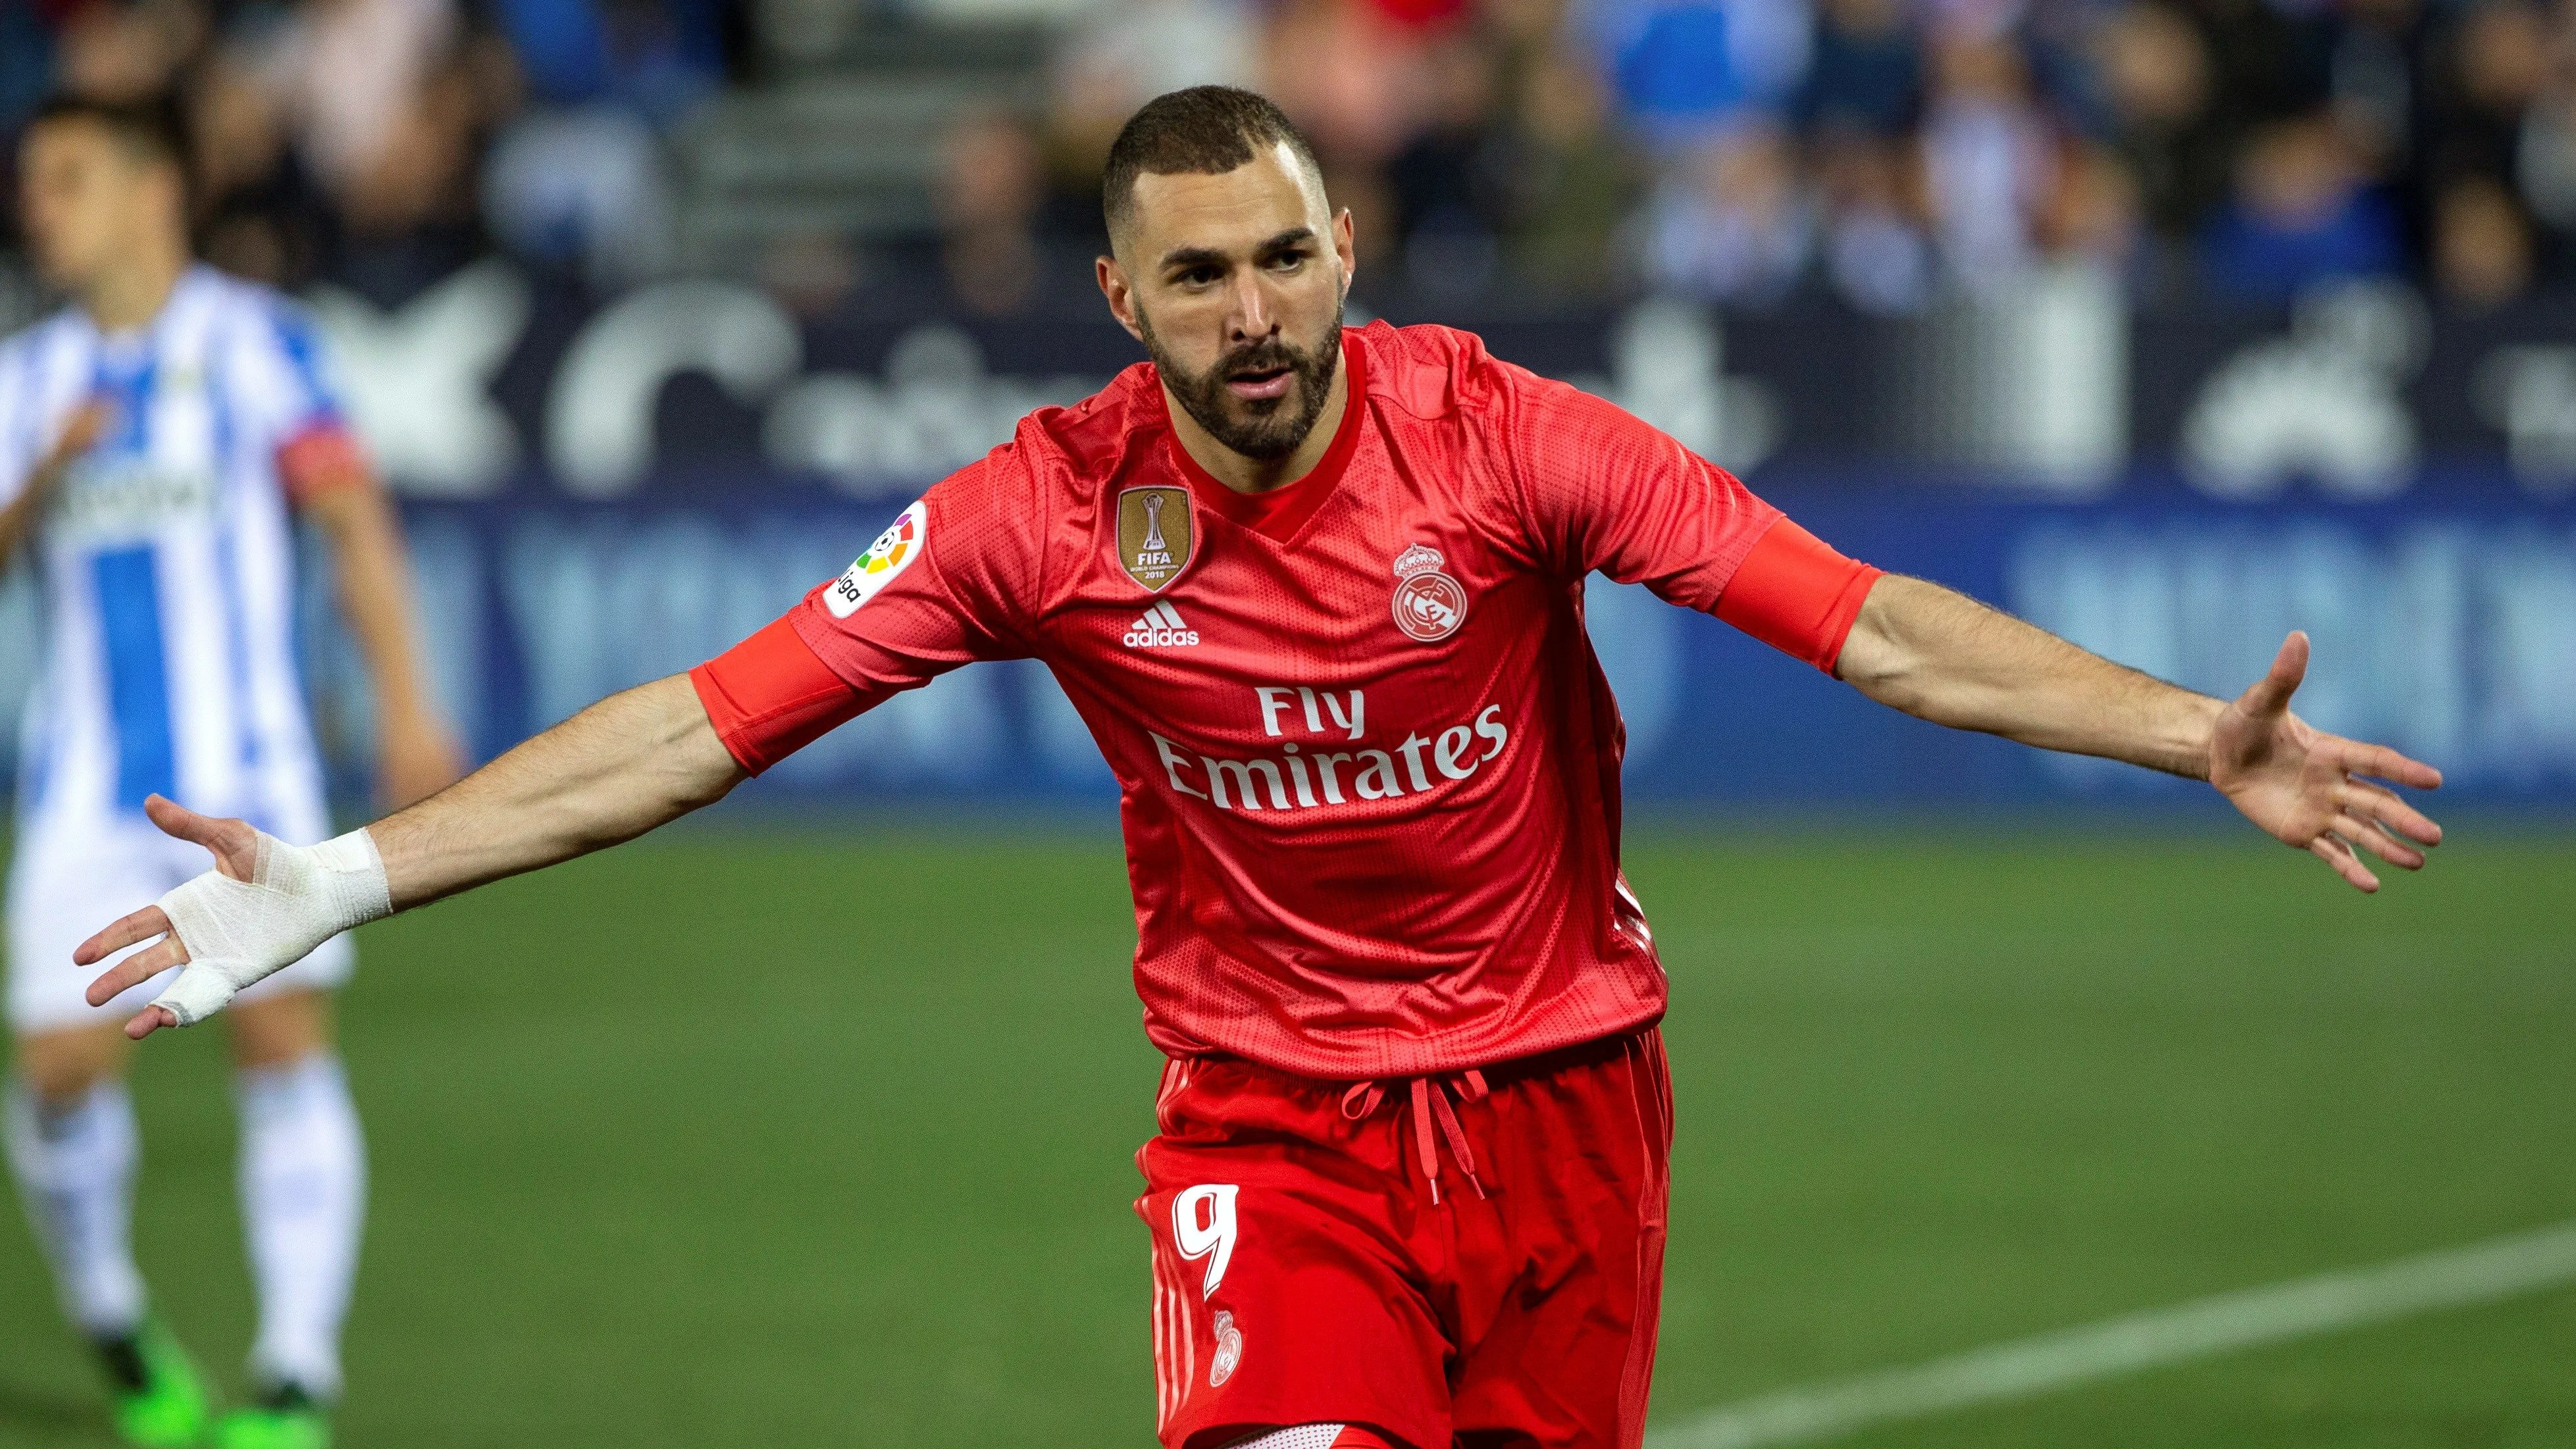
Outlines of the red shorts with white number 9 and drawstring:
M1643 1439L1672 1153L1659 1032L1358 1086L1175 1060L1157 1125L1136 1212L1167 1449L1301 1423L1406 1449Z

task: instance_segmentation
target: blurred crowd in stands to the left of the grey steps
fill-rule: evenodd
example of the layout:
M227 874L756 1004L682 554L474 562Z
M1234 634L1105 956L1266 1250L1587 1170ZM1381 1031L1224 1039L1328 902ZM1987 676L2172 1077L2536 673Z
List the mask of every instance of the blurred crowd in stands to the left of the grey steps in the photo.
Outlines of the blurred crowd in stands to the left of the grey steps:
M175 106L204 255L283 286L392 304L495 245L621 283L667 263L662 131L744 54L729 0L0 0L0 134Z

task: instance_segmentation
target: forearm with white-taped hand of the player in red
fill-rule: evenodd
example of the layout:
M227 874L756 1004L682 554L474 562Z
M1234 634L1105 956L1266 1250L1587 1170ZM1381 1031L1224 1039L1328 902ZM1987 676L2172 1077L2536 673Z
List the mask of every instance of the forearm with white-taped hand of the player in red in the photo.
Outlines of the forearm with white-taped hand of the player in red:
M672 674L611 695L438 795L319 847L289 847L245 821L155 798L152 824L214 852L214 875L162 898L180 914L175 924L160 903L144 906L82 942L72 960L98 965L162 937L93 981L93 1006L191 965L126 1022L129 1037L147 1037L206 1017L337 932L629 842L714 806L744 777L698 690Z

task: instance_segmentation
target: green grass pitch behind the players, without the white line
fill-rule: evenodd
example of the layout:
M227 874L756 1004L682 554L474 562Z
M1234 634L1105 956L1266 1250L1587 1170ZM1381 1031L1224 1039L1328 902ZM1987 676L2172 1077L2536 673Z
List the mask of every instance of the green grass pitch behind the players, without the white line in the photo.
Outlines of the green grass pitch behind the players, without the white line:
M1674 978L1664 1418L2576 1217L2576 839L2460 831L2375 901L2246 831L1628 854ZM716 826L361 942L345 1446L1149 1444L1113 839ZM229 1377L216 1035L139 1099L144 1266ZM23 1228L0 1343L0 1446L108 1441ZM2576 1289L1852 1439L2571 1441Z

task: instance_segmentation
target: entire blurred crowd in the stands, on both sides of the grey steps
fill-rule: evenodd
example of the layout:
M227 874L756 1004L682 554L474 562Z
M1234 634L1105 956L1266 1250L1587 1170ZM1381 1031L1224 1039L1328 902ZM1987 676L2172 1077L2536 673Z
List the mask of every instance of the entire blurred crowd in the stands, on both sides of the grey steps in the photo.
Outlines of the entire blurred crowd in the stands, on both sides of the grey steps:
M2576 281L2576 0L1097 0L961 116L938 234L799 234L801 311L920 268L1084 286L1097 165L1177 85L1278 98L1409 296L1829 296L1904 314L2081 263L2141 304ZM762 80L742 0L0 0L0 126L175 95L206 252L399 301L500 247L672 265L670 134ZM909 247L909 250L907 250ZM835 278L860 278L835 286ZM873 281L871 281L873 278Z

